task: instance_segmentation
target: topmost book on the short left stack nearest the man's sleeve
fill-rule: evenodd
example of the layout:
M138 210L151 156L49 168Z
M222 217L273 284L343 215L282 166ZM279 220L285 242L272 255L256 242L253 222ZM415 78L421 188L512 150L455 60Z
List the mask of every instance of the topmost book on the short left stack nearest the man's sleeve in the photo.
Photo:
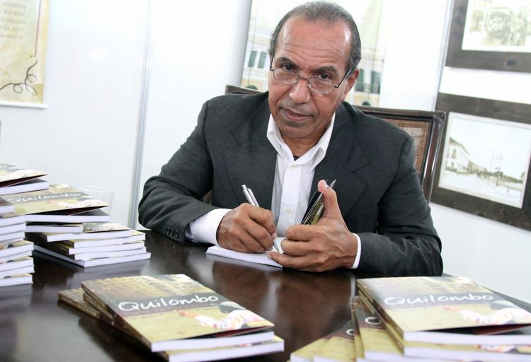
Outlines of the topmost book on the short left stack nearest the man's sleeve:
M81 233L33 233L31 238L47 242L60 240L108 239L132 236L132 230L119 223L84 223Z

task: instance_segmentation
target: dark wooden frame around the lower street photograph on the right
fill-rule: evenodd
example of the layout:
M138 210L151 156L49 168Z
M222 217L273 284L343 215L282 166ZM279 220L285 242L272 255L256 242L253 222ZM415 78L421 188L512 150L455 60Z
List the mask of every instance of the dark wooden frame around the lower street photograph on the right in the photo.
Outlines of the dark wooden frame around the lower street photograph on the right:
M465 115L465 117L468 115L471 118L476 117L481 119L481 117L484 117L484 119L495 119L496 122L498 122L498 129L500 127L503 129L504 124L513 124L515 126L521 124L526 132L526 135L531 132L531 127L528 127L528 125L531 125L531 119L528 117L528 115L531 114L531 105L527 104L439 93L437 109L448 112L449 118L452 116L452 112ZM521 200L521 206L511 206L510 204L506 204L504 202L493 201L493 199L489 199L489 197L480 197L477 194L474 195L474 192L459 192L456 189L452 189L452 187L441 187L441 168L442 162L445 162L443 152L445 152L447 144L451 142L451 134L447 136L449 125L450 122L448 122L447 127L445 127L445 130L442 134L443 145L440 148L438 165L435 170L435 187L433 189L432 201L437 204L450 206L454 209L469 212L470 214L491 218L492 220L499 221L501 223L507 223L508 225L516 226L518 228L531 230L531 166L529 166L531 165L531 162L529 161L529 151L527 151L527 153L524 151L524 154L522 155L522 160L530 163L528 163L526 170L527 177L523 175L523 189L520 191L520 196L523 197ZM489 144L489 142L486 140L484 140L484 143L486 145ZM513 144L510 142L507 144L507 148L516 148L517 150L520 149L518 148L518 144ZM492 157L494 157L494 152L495 151L492 151ZM444 167L447 168L447 165ZM480 175L482 175L482 177L496 177L495 185L498 187L498 180L503 180L501 178L504 177L503 172L496 176L492 170L492 168L490 171L485 170L484 173L474 170L472 173L476 173L476 177L481 177ZM456 170L455 173L458 174L459 172ZM469 175L472 175L472 173L470 170L467 171L467 174ZM507 192L509 192L509 189Z

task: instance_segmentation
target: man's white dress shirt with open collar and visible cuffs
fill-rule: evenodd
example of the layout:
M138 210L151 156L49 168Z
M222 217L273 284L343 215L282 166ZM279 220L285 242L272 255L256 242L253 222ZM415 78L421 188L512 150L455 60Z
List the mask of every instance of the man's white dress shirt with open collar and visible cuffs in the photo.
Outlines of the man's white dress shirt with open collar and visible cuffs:
M335 119L336 115L334 114L319 142L295 160L290 148L282 139L280 129L278 129L273 117L269 117L266 136L275 151L277 151L271 212L273 213L278 237L285 237L288 227L302 221L302 216L304 216L309 202L315 168L326 155ZM223 216L229 211L230 209L215 209L196 218L186 228L186 237L200 243L217 245L217 227ZM354 235L358 241L358 254L351 267L352 269L358 267L361 255L360 237L355 233Z

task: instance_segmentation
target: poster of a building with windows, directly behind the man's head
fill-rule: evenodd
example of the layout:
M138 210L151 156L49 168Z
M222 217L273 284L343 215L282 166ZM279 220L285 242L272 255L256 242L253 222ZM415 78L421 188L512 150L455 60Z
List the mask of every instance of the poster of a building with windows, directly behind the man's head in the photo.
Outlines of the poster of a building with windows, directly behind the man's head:
M362 44L362 59L358 65L360 74L346 100L356 105L365 103L377 107L388 33L388 24L381 21L383 0L335 2L353 15ZM271 62L269 57L271 34L285 13L303 3L304 1L300 0L282 2L253 0L241 86L267 91Z

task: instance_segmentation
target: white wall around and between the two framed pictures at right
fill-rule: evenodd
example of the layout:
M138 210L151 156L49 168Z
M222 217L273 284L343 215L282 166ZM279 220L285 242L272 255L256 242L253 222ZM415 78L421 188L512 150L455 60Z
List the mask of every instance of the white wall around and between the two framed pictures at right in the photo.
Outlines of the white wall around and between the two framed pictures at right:
M392 22L382 79L381 107L433 110L438 90L531 103L531 74L442 69L445 0L386 1ZM510 90L513 90L511 92ZM496 93L498 92L498 93ZM431 204L442 239L444 271L531 303L531 232Z

